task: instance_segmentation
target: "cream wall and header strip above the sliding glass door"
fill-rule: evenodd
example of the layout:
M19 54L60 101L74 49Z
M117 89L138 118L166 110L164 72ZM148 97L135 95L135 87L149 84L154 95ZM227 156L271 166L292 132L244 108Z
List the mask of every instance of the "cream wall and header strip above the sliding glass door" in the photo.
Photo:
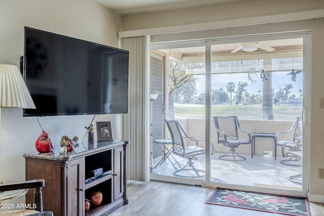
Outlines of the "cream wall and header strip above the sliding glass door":
M119 37L193 32L323 17L322 0L245 0L123 16ZM218 35L214 35L218 36ZM165 39L168 39L166 37Z

